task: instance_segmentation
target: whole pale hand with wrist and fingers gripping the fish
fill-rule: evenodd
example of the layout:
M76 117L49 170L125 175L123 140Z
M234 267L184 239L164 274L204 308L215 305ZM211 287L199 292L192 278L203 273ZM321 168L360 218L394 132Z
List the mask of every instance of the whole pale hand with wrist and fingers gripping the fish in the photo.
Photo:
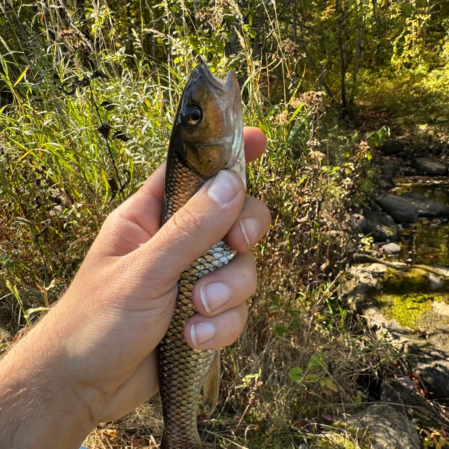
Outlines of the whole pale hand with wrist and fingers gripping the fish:
M266 139L252 127L244 136L250 162ZM78 449L99 423L149 399L180 273L223 236L238 254L195 284L185 339L221 348L240 335L257 284L251 249L269 210L220 172L159 229L164 172L108 216L66 294L0 361L1 448Z

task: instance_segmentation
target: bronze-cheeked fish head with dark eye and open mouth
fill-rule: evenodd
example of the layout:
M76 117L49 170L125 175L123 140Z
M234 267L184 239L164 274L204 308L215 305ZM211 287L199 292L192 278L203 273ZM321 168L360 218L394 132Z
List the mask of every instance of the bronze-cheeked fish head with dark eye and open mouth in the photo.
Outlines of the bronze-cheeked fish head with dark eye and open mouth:
M221 79L206 64L194 68L176 112L170 146L204 179L227 169L242 176L242 158L244 177L242 97L234 70Z

